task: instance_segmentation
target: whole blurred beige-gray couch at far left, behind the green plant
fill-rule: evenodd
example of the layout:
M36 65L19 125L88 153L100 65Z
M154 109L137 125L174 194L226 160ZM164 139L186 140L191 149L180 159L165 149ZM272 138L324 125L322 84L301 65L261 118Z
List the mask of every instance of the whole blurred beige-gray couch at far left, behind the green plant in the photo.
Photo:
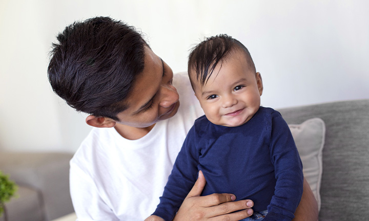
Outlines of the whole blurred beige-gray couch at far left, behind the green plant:
M47 221L74 212L69 194L72 157L56 152L0 152L0 170L18 185L17 197L5 204L8 221Z

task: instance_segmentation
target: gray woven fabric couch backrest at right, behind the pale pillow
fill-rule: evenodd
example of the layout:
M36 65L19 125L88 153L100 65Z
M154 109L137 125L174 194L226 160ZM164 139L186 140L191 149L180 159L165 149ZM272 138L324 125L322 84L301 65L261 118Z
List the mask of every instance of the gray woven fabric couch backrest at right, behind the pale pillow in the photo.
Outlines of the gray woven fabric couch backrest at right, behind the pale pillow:
M289 124L325 123L319 220L369 220L369 100L278 111Z

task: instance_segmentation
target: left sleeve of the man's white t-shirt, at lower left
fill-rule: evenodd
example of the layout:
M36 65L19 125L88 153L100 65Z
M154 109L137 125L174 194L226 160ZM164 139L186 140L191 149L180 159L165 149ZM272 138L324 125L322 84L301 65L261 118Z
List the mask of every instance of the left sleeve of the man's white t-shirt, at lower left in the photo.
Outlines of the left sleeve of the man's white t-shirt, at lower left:
M73 161L69 179L72 203L78 217L76 221L119 220L99 196L93 178Z

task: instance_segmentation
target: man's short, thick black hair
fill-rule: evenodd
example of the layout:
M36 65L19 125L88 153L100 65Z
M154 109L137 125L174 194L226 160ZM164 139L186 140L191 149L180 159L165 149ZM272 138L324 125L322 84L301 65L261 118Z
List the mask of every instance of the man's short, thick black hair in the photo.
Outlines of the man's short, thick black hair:
M48 78L53 91L78 112L118 120L144 70L145 46L134 27L110 17L75 22L52 44Z

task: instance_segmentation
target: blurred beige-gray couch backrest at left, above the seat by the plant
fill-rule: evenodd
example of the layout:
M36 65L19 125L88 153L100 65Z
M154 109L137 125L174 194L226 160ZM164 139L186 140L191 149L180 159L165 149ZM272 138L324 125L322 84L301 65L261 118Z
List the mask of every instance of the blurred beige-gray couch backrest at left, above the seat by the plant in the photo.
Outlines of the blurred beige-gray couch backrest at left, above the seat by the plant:
M39 190L44 216L51 220L74 212L69 193L72 157L61 152L1 152L0 169L15 183Z

